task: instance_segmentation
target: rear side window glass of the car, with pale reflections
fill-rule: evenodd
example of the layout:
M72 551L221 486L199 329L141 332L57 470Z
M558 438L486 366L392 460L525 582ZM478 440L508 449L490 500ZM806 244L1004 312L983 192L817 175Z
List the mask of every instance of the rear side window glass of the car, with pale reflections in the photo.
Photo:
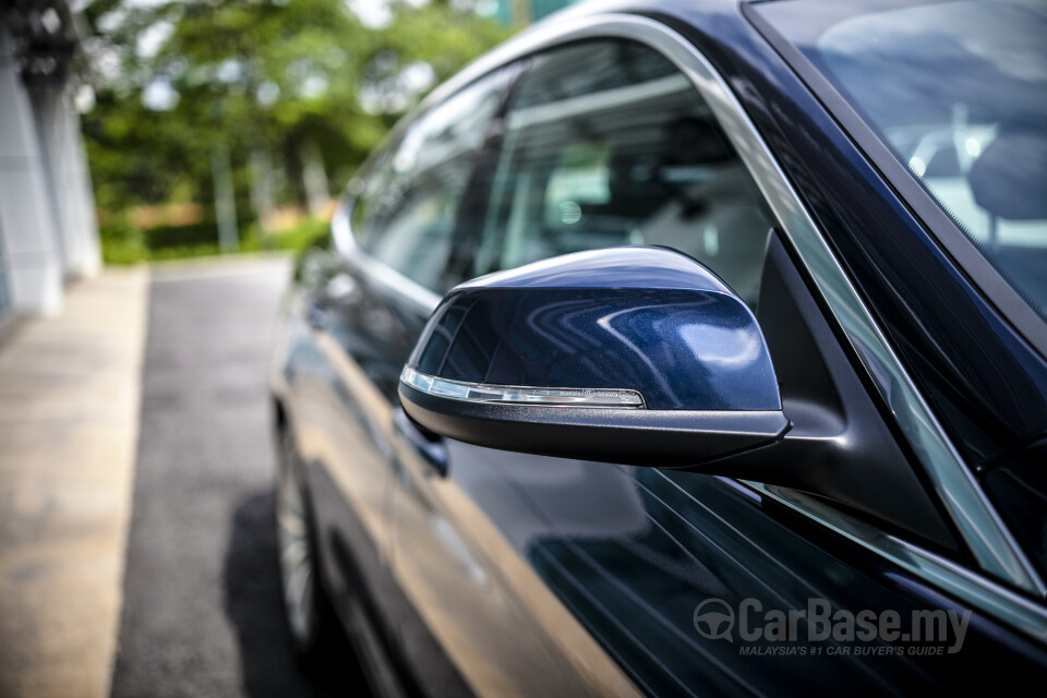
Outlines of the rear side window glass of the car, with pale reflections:
M490 75L412 122L358 202L371 255L432 290L444 290L459 203L504 85Z

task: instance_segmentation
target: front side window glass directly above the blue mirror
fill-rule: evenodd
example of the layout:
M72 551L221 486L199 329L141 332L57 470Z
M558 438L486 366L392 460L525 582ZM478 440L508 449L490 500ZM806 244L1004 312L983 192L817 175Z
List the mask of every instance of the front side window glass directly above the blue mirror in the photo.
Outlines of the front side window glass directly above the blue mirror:
M685 75L641 44L587 41L535 57L516 89L474 270L666 245L755 308L771 226Z

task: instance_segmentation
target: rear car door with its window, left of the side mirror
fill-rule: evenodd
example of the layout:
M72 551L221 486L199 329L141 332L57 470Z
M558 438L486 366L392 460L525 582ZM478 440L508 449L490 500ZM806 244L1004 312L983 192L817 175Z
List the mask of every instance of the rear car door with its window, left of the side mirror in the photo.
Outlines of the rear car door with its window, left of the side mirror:
M333 249L300 267L311 340L301 342L310 357L296 362L292 402L324 577L386 688L404 674L395 652L404 637L413 654L434 647L388 566L397 381L450 282L457 218L509 79L488 75L400 124L338 206ZM460 683L453 667L435 673L438 685Z

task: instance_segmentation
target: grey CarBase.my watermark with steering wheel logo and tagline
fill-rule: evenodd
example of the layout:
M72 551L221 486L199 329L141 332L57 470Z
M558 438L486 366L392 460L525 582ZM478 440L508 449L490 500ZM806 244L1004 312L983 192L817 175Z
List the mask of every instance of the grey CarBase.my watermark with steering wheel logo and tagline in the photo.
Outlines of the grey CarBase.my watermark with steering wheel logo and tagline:
M808 599L805 609L765 610L759 599L743 599L735 609L712 598L694 615L706 639L760 645L742 647L743 654L955 654L970 622L966 609L853 612L833 609L826 599Z

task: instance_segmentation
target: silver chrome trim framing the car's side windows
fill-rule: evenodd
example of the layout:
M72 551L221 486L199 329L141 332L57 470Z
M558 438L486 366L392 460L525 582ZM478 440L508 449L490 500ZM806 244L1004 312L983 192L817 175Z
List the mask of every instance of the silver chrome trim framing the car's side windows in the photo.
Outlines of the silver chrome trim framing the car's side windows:
M641 16L602 14L564 17L555 24L535 25L479 59L434 91L423 100L419 109L428 109L485 73L526 58L535 51L569 41L595 38L624 38L640 41L669 58L687 75L710 106L754 177L785 236L814 279L817 291L825 299L833 318L843 328L874 385L889 406L902 433L930 479L935 492L982 570L990 577L1001 579L1024 591L1042 598L1047 595L1047 587L1003 525L999 514L917 390L915 383L833 256L756 127L711 63L687 39L667 26ZM386 277L387 285L394 278L399 279L396 284L406 282L406 288L411 291L409 294L417 301L430 311L435 309L440 299L428 289L421 289L412 280L385 267L382 263L369 260L364 254L354 252L351 256L356 260L366 260L365 265L371 269L384 267L381 276ZM417 290L414 287L423 290L424 293L413 292ZM395 285L390 285L389 288L400 292ZM749 484L759 488L761 493L770 494L762 485ZM784 501L783 493L789 491L783 489L775 489L775 491L779 494L771 496ZM795 498L794 495L798 493L792 493L791 496ZM799 508L792 503L792 500L786 503L794 508ZM855 539L839 525L837 520L839 514L830 507L811 503L810 506L799 510L821 525ZM1043 613L1037 611L1034 614L1035 621L1021 621L1022 614L1030 614L1030 602L996 582L887 534L866 537L861 542L867 549L893 561L915 576L936 586L944 586L956 593L960 591L956 591L955 585L942 581L949 578L942 570L952 570L949 573L952 575L963 570L962 576L977 579L988 594L979 597L980 609L1034 637L1045 637L1044 628L1047 627L1045 626L1047 618ZM898 554L895 550L898 545L904 546L912 554ZM970 595L967 592L964 593L966 594L964 598ZM1039 606L1035 607L1039 609Z

